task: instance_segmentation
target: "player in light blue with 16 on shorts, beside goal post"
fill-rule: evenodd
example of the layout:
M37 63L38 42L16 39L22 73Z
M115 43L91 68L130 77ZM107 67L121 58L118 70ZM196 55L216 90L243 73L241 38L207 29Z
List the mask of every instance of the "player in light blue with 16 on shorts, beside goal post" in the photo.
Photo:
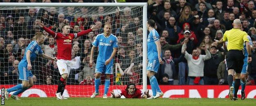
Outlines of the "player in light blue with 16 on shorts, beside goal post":
M162 91L159 88L157 79L155 78L155 73L158 72L158 68L160 64L164 64L161 58L161 45L159 41L159 34L155 30L155 21L148 20L147 29L150 31L147 40L147 48L148 48L148 65L147 65L147 76L149 77L151 90L153 92L153 96L147 99L155 99L163 95Z

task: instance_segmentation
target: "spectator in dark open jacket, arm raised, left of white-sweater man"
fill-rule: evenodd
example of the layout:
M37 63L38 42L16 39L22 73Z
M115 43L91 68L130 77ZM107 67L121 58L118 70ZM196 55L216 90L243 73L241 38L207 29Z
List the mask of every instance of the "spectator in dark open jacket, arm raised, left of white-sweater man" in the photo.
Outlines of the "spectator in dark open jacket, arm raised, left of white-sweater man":
M170 50L165 50L165 57L162 58L162 60L165 62L164 64L160 65L159 72L158 72L158 78L165 77L165 74L168 76L168 84L173 85L174 84L174 75L177 75L175 65L181 62L184 59L184 52L179 58L173 58L171 56Z

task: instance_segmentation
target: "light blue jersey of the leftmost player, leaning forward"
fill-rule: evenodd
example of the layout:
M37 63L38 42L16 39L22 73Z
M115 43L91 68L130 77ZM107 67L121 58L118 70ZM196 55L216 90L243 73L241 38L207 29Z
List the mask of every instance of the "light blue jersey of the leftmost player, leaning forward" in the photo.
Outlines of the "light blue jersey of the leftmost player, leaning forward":
M33 40L32 42L30 42L30 44L28 44L26 48L24 57L19 63L21 66L24 66L24 67L27 67L27 55L26 55L27 51L31 51L30 62L33 62L36 59L38 54L43 54L41 46L37 43L37 41Z

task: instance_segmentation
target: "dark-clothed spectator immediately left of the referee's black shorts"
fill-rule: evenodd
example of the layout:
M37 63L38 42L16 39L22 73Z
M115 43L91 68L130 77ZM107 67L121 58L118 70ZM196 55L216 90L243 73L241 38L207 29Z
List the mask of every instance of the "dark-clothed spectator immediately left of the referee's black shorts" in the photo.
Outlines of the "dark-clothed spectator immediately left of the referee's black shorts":
M219 80L219 85L228 85L228 71L226 67L226 56L225 60L219 63L217 69L217 77Z

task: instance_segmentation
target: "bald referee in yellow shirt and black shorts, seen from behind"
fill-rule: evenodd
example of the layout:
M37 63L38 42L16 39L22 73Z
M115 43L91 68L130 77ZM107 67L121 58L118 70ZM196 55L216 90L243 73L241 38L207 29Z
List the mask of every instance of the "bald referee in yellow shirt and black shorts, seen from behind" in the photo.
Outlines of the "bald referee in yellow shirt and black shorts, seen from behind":
M246 44L246 49L249 54L248 62L251 62L251 47L249 44L249 39L247 38L247 33L241 31L242 27L241 20L235 19L233 21L233 29L226 31L223 35L223 38L219 41L215 40L213 46L222 44L223 42L228 41L226 54L226 63L228 68L228 83L229 83L229 98L233 99L233 90L235 88L234 97L237 97L237 92L240 86L240 73L242 71L242 66L244 64L244 53L243 53L243 44ZM235 86L232 86L233 74L235 71Z

